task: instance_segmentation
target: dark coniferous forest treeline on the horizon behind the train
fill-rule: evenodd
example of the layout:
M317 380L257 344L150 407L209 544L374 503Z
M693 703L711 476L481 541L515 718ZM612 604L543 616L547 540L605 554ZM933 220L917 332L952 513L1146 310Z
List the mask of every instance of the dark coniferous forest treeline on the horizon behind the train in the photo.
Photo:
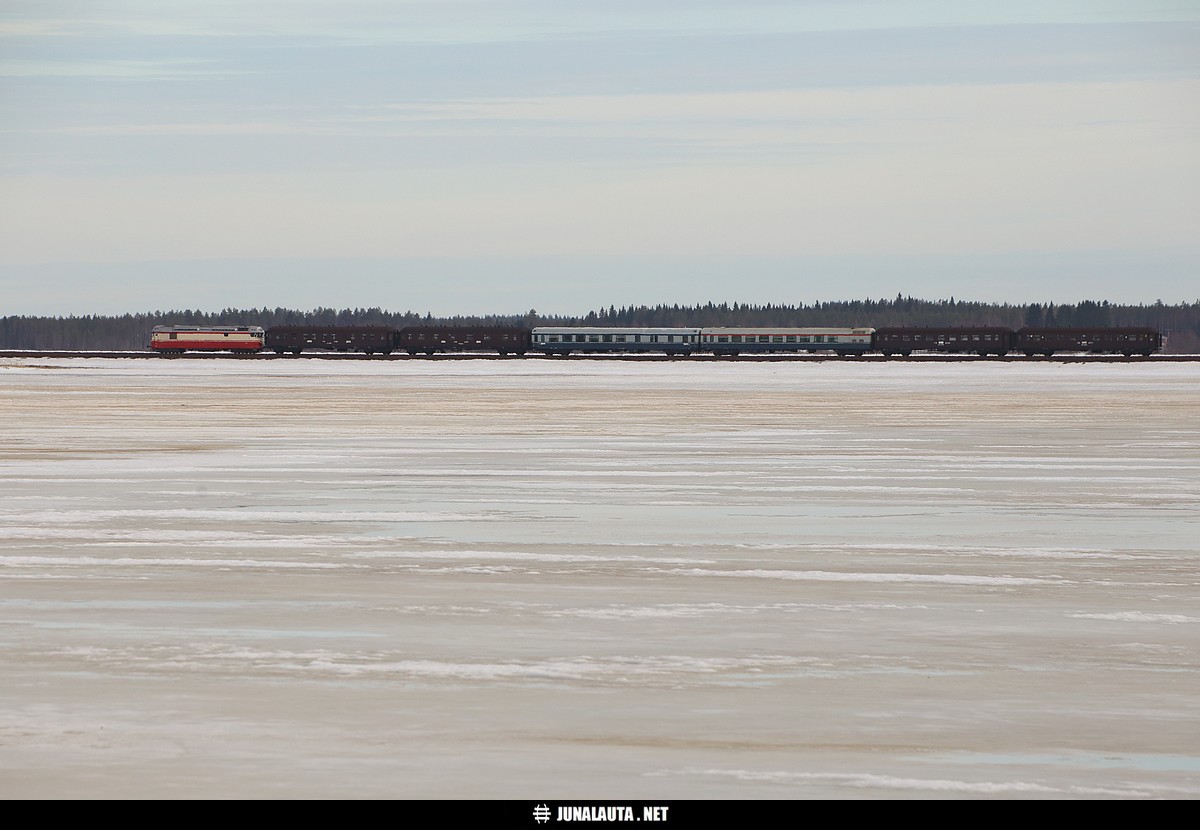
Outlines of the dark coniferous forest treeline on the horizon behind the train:
M433 317L383 308L226 308L121 315L0 317L0 349L138 350L156 325L596 325L596 326L1151 326L1166 335L1166 354L1200 353L1200 300L1194 303L988 303L965 300L845 300L811 305L706 303L610 306L582 317L524 314Z

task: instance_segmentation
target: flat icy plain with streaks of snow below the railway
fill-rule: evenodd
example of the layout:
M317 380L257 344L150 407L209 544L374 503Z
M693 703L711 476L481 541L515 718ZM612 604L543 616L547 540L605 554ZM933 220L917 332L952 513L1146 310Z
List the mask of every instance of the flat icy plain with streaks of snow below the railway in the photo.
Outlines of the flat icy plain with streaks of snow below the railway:
M0 798L1195 799L1198 366L0 361Z

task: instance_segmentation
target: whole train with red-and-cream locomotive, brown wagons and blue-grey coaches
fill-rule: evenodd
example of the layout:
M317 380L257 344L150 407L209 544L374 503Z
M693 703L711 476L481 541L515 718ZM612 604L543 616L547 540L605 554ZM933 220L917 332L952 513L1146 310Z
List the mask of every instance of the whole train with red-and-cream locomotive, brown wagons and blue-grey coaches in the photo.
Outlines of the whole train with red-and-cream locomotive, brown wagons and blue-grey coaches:
M980 357L1056 353L1148 356L1163 348L1162 332L1139 326L1006 329L1001 326L155 326L150 349L164 355L229 351L299 355L354 351L366 355L439 353L665 354L689 356L824 353L842 356L914 353L972 354Z

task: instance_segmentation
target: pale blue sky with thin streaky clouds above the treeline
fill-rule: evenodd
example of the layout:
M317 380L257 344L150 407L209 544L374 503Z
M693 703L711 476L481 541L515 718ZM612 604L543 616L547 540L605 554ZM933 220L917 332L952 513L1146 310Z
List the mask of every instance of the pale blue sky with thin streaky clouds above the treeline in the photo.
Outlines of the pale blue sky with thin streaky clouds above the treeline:
M1200 299L1200 0L0 0L0 317Z

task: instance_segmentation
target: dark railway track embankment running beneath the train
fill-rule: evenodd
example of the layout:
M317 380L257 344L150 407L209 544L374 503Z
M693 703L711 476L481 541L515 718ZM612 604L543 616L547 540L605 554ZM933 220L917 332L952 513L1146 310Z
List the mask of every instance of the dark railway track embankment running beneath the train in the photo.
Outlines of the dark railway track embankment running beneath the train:
M840 362L887 362L887 363L1027 363L1027 362L1042 362L1042 363L1190 363L1200 362L1200 355L1151 355L1148 357L1134 356L1126 357L1124 355L1087 355L1087 354L1061 354L1054 355L1051 357L1036 356L1026 357L1025 355L1004 355L1002 357L989 355L986 357L980 357L978 355L940 355L940 354L924 354L924 355L912 355L910 357L901 357L894 355L886 357L883 355L859 355L859 356L846 356L846 355L834 355L834 354L774 354L774 355L738 355L737 357L718 357L715 355L690 355L688 357L680 355L568 355L566 357L554 357L550 355L526 355L523 357L517 357L515 355L500 356L497 354L484 354L484 353L445 353L436 355L409 355L409 354L392 354L392 355L364 355L358 353L337 353L337 351L313 351L310 354L300 355L276 355L276 354L230 354L230 353L204 353L204 351L188 351L181 355L163 355L156 351L23 351L23 350L0 350L0 357L36 357L36 359L54 359L54 357L106 357L106 359L128 359L128 360L374 360L374 361L403 361L403 360L552 360L554 362L559 361L624 361L624 362L720 362L720 363L778 363L778 362L822 362L822 361L840 361Z

